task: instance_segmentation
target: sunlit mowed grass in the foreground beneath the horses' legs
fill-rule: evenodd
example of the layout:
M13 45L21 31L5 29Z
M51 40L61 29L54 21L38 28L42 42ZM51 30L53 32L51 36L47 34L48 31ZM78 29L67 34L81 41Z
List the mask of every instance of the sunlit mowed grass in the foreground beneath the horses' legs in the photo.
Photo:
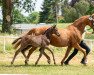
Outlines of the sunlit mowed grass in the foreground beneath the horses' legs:
M0 74L30 74L30 75L94 75L94 52L90 52L88 56L88 65L84 66L80 64L80 60L83 56L79 52L70 62L70 65L60 65L60 62L64 56L66 48L53 47L55 59L57 65L53 64L52 56L50 52L46 53L51 57L51 64L47 63L47 60L42 56L38 65L34 63L38 58L39 51L36 50L30 57L29 65L24 65L24 57L20 53L14 62L14 65L10 65L14 50L11 53L0 53Z

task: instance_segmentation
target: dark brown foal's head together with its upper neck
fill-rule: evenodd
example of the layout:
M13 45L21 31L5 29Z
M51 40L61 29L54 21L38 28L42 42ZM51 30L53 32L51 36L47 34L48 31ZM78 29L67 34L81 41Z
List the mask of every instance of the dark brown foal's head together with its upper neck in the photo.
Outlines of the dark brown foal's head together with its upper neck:
M50 38L52 34L60 36L58 29L56 28L56 25L48 28L43 34L45 34L48 38Z

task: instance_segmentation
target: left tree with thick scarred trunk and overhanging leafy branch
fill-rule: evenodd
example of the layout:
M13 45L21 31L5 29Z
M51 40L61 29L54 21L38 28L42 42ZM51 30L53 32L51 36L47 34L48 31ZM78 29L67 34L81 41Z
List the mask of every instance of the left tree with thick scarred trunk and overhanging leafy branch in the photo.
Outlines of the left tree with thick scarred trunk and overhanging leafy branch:
M35 3L32 0L0 0L2 5L3 24L2 32L11 33L13 7L32 11ZM14 6L13 6L14 5Z

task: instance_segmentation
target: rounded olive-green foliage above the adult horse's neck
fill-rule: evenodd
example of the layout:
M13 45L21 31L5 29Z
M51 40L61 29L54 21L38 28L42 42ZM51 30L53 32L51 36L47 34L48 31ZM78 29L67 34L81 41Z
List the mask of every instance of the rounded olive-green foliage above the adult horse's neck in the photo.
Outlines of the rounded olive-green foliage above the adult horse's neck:
M72 6L71 4L68 4L67 1L66 4L64 3L62 6L62 13L65 22L73 22L75 19L83 15L89 14L91 12L94 13L93 7L91 7L88 0L72 0L72 2L74 3Z

